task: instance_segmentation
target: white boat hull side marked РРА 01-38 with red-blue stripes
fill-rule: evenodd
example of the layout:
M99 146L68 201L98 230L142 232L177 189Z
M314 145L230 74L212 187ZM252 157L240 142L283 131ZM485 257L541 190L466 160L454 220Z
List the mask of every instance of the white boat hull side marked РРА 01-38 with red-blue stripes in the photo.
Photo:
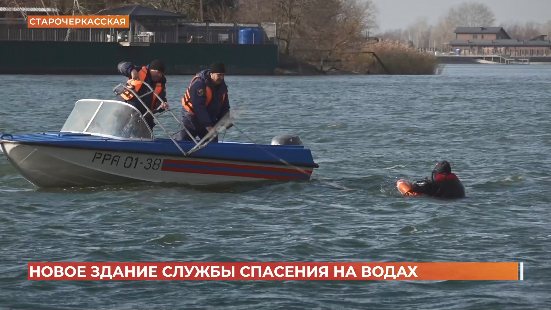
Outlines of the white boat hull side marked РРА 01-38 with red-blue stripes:
M187 185L234 184L261 180L309 180L312 167L204 159L163 154L32 145L3 140L10 164L41 188L138 182Z

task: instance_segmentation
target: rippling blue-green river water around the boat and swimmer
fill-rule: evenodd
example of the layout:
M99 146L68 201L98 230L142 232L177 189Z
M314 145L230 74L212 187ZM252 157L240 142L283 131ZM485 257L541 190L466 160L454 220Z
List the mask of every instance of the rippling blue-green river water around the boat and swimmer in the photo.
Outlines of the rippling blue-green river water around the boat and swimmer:
M190 79L168 77L177 113ZM40 190L2 157L0 308L551 308L551 66L226 80L236 126L257 143L299 135L312 180ZM123 81L0 76L0 133L58 131L74 101ZM442 159L466 199L399 195ZM33 261L522 261L524 281L28 281Z

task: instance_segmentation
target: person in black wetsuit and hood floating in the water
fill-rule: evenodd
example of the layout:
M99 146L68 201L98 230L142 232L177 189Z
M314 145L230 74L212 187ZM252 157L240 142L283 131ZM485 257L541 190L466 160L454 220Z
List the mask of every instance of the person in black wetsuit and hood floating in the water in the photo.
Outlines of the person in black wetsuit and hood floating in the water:
M463 198L465 196L463 184L457 175L451 173L451 165L447 161L437 163L430 177L413 183L412 191L434 197Z

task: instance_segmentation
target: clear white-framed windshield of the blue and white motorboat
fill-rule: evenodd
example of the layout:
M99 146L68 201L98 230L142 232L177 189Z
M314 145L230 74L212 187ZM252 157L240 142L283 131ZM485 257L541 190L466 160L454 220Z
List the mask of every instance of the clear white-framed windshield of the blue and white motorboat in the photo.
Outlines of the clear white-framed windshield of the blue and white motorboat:
M84 132L121 140L154 140L139 111L116 100L78 100L61 131Z

